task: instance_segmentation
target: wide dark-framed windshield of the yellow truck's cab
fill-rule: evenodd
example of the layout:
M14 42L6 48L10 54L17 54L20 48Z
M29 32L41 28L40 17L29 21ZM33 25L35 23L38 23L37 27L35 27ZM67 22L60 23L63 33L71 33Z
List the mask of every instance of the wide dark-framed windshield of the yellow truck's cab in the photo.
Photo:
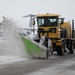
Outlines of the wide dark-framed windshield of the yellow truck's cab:
M58 17L38 17L38 26L57 26Z

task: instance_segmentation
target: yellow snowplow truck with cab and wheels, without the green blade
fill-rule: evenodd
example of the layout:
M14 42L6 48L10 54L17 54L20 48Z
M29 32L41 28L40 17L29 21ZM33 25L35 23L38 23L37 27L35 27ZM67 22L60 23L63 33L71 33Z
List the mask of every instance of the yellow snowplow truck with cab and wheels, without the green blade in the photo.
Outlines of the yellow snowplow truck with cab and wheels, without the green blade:
M56 51L58 55L64 55L66 49L69 53L74 53L74 21L71 27L71 23L64 22L64 18L60 18L58 14L38 14L36 18L38 37L45 36L46 47L48 47L48 39L51 40L51 53Z

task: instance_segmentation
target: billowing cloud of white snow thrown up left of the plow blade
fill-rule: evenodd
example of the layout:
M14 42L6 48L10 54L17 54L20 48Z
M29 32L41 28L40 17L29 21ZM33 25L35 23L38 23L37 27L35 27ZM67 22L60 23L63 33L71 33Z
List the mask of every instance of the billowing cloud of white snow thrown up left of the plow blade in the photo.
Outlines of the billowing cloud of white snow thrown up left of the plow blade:
M1 30L3 41L0 43L0 62L19 60L23 57L27 59L25 46L21 36L17 34L20 31L17 25L11 19L4 17Z

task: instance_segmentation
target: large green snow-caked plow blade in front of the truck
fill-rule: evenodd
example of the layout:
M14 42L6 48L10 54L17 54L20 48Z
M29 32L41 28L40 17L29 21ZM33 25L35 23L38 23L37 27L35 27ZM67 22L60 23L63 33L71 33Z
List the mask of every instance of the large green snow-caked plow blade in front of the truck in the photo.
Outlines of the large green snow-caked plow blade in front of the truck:
M25 45L26 52L29 56L38 59L46 59L47 58L47 48L40 45L39 43L29 39L28 37L22 37L22 40Z

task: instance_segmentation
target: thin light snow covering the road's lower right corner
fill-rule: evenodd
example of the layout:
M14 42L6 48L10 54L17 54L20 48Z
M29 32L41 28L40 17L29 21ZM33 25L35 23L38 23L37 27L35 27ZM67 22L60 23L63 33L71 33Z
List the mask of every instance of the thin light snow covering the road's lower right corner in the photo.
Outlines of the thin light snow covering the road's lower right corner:
M60 60L58 60L59 62ZM75 75L75 57L27 75Z

